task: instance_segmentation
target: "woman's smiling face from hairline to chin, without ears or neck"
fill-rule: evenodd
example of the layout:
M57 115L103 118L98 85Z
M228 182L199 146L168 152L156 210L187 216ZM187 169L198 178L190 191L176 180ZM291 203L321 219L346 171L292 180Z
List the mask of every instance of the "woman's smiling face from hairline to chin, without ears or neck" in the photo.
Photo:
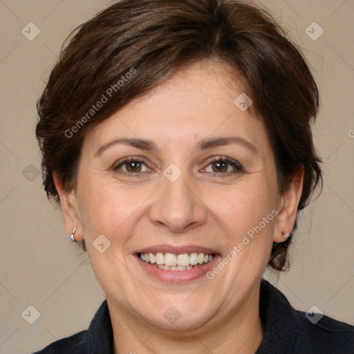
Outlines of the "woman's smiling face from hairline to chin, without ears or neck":
M85 137L71 226L115 313L193 330L258 301L281 196L265 129L234 103L231 75L194 64Z

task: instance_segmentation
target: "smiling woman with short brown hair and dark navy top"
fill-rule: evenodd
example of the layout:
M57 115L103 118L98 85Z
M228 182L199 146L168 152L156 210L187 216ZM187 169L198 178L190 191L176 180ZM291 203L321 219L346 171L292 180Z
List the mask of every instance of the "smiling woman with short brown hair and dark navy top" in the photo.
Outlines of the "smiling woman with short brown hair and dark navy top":
M318 91L269 15L124 0L80 26L38 102L44 188L106 301L39 353L353 353L262 279L321 184ZM315 315L315 314L313 314Z

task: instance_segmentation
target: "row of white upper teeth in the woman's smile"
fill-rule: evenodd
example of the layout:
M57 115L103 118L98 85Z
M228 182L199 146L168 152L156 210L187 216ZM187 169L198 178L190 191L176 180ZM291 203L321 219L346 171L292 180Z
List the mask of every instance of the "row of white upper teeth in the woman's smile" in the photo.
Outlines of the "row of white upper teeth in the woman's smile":
M158 265L196 265L202 263L208 263L212 261L212 254L204 254L204 253L183 253L183 254L173 254L173 253L165 253L157 252L155 253L140 253L140 259L147 263L156 263Z

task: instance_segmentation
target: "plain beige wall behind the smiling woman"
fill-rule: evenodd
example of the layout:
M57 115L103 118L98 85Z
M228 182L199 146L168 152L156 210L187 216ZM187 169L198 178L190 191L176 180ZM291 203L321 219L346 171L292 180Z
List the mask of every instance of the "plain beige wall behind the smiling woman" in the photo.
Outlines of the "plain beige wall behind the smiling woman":
M111 2L0 0L0 353L30 353L86 329L104 299L86 254L68 241L36 176L35 102L68 33ZM295 308L315 304L354 324L354 2L258 2L313 67L322 96L315 143L326 161L324 191L301 220L292 269L272 281ZM32 41L21 33L30 21L41 31ZM324 29L315 41L305 32L313 21ZM32 325L21 317L30 305L40 313Z

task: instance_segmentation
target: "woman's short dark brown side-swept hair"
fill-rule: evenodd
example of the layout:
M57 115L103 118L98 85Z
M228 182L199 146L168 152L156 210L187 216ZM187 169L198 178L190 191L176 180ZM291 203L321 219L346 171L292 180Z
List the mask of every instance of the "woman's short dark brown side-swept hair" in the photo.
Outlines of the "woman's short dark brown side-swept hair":
M48 198L59 202L53 171L65 189L75 188L89 128L203 59L221 59L241 73L252 109L268 132L279 193L304 167L298 212L304 209L322 184L310 129L319 105L317 86L299 49L274 19L235 0L123 0L73 31L37 102ZM113 99L90 111L109 88ZM285 269L291 240L273 243L270 267Z

